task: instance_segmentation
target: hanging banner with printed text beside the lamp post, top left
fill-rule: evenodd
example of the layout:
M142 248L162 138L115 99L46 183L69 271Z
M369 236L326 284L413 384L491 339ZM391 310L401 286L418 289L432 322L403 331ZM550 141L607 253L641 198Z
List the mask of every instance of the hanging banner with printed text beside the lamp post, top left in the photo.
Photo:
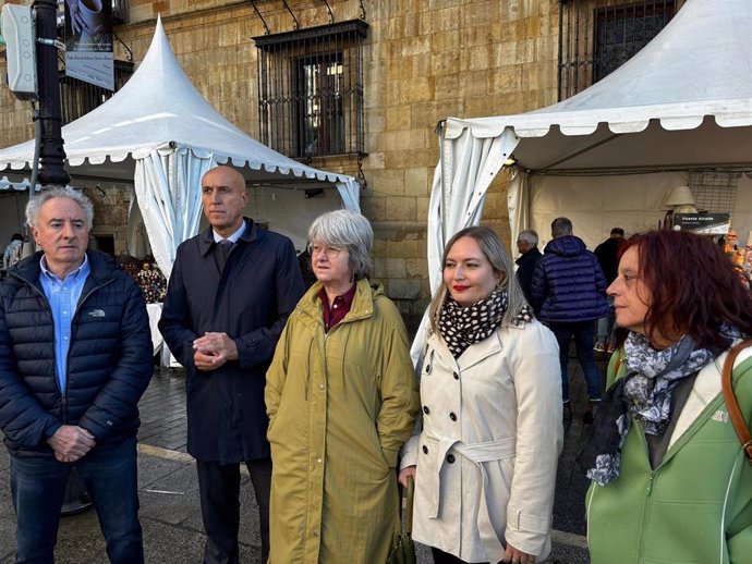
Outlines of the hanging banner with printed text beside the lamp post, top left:
M65 0L65 75L114 90L112 2Z

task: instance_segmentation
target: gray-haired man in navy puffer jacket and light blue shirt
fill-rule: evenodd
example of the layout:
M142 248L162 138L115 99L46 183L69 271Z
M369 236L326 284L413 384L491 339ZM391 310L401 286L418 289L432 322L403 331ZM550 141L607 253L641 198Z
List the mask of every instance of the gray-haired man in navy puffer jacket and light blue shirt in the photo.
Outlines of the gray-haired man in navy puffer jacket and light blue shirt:
M86 483L110 562L144 562L138 400L154 371L146 304L114 260L87 250L92 203L56 187L26 219L41 253L0 285L0 428L11 458L16 562L53 562L65 485Z

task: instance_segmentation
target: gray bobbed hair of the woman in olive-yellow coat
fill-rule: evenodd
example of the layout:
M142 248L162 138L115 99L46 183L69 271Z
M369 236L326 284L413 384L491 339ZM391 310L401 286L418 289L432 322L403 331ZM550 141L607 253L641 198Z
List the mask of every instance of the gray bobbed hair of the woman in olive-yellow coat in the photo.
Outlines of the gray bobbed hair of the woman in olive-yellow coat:
M355 280L368 278L373 266L374 230L360 213L338 209L318 216L308 229L308 243L347 248Z

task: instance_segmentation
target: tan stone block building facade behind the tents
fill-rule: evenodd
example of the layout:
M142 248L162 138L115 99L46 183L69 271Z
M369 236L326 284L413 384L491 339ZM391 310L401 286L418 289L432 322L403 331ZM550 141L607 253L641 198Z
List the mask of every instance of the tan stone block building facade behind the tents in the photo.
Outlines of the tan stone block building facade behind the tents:
M31 2L26 2L31 3ZM559 0L131 0L116 27L141 61L158 14L185 73L231 122L260 139L259 50L254 37L362 20L364 154L311 164L361 177L364 214L376 232L375 279L405 314L429 299L426 216L438 162L437 122L517 113L557 101ZM28 105L0 89L0 145L33 134ZM263 139L262 139L263 140ZM484 220L509 242L507 177L495 181ZM132 192L87 187L102 208L97 226L124 249ZM112 208L105 211L109 203ZM97 210L99 212L99 209Z

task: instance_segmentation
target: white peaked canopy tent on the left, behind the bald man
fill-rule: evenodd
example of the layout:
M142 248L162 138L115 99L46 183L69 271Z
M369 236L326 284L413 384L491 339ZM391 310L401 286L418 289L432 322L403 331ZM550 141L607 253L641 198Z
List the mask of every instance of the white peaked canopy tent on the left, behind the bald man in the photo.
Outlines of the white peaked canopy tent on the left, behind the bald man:
M167 277L178 245L198 232L201 177L218 163L242 170L254 188L252 200L259 194L276 200L277 188L280 193L284 192L281 188L336 188L339 197L335 199L329 195L332 191L324 191L327 197L320 200L326 206L360 210L355 179L284 157L217 112L180 68L161 20L157 20L146 57L125 86L64 126L62 135L68 171L75 180L133 182L151 250ZM17 176L13 171L27 174L33 156L33 140L2 149L0 171L4 169L10 176ZM292 209L289 195L279 199L286 201L288 218L312 220L310 211L319 212L322 207L318 203L310 205L303 192ZM296 226L302 236L306 226Z

